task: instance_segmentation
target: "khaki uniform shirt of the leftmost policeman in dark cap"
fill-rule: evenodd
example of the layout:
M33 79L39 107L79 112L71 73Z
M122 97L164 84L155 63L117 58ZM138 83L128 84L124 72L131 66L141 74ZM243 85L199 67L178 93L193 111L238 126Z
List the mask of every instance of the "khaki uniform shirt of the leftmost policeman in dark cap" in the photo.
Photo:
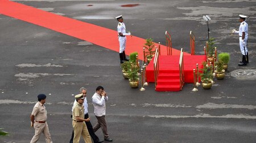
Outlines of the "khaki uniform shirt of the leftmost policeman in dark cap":
M46 107L40 102L36 103L31 115L35 116L36 121L46 121L47 120Z

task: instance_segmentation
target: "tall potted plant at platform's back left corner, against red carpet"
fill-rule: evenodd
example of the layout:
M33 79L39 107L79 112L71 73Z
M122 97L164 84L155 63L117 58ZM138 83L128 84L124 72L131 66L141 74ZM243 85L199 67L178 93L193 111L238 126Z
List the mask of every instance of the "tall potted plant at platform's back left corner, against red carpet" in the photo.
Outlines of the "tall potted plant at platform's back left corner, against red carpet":
M155 55L155 44L152 38L147 38L146 43L144 44L143 47L146 49L145 53L146 53L147 63L149 63Z

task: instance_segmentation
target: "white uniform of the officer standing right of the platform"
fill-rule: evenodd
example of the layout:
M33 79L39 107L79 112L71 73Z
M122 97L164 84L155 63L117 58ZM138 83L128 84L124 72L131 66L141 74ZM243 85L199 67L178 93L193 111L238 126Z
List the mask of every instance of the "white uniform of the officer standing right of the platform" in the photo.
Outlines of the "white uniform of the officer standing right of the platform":
M242 42L242 33L245 32L245 38L243 39L243 42L245 42L245 44L243 45L243 42ZM246 53L248 53L248 50L247 50L247 40L248 40L248 24L243 21L241 24L240 24L240 27L239 27L239 31L235 31L234 33L238 33L239 34L239 44L240 44L240 50L241 50L241 53L243 55L246 55ZM246 52L246 53L245 53Z

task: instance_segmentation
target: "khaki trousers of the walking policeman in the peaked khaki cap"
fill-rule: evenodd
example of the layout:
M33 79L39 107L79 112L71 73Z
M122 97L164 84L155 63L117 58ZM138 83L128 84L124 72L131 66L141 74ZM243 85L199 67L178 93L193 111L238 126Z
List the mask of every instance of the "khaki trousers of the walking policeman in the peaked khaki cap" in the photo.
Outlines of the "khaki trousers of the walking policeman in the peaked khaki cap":
M86 143L92 143L85 122L76 122L73 120L72 125L74 130L73 143L79 143L81 135Z

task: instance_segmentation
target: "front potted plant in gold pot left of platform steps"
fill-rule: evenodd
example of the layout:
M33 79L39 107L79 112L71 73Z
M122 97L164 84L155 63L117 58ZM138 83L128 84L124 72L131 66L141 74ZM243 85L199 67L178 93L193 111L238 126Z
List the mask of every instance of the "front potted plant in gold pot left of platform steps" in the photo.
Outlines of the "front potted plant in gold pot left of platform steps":
M130 70L128 71L129 74L129 84L131 88L138 88L139 87L139 76L137 74L138 71L137 66L131 66Z

